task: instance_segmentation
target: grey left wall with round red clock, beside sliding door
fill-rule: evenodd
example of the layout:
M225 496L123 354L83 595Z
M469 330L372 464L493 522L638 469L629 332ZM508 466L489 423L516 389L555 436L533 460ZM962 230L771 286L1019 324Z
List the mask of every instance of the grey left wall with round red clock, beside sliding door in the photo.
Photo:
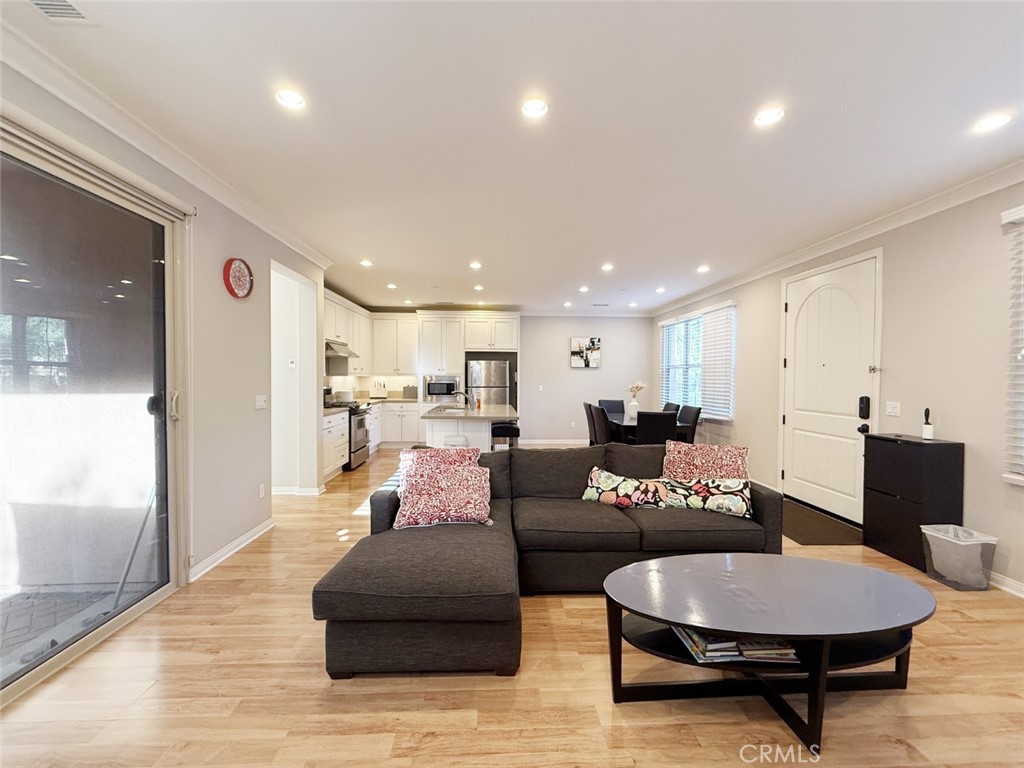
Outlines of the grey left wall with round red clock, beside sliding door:
M270 392L270 263L312 281L317 303L323 270L6 65L0 75L5 109L24 110L199 210L187 297L191 396L181 411L191 428L193 471L191 542L184 548L201 563L270 519L270 495L257 494L259 483L271 481L270 410L254 409L255 395ZM252 266L247 299L224 290L221 269L231 256ZM316 334L323 338L322 329ZM314 408L318 387L318 378L308 387Z

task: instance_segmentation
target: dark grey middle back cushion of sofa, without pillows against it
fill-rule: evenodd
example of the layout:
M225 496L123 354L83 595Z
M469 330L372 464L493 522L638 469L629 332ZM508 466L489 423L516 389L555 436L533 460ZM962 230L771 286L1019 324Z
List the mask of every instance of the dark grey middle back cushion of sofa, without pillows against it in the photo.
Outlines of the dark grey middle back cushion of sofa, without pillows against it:
M584 449L510 449L512 497L579 500L592 467L604 464L604 445Z

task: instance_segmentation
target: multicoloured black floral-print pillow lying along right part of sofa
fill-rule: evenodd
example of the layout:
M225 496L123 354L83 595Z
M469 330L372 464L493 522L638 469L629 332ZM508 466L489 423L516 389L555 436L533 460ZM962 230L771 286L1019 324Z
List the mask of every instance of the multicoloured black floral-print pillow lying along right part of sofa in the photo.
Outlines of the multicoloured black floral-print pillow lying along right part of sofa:
M584 501L620 509L657 507L705 509L735 517L753 517L751 486L745 479L678 482L668 477L638 480L594 467Z

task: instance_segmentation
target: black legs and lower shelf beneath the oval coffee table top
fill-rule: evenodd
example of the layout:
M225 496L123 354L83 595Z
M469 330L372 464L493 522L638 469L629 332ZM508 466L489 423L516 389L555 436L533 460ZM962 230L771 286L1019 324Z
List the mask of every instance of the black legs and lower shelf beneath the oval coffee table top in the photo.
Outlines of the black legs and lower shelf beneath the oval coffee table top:
M906 688L910 666L910 629L865 635L855 639L812 638L794 642L799 664L756 662L699 664L669 625L626 612L610 598L608 649L611 699L651 701L670 698L762 696L808 748L820 753L826 691ZM623 683L623 640L662 658L680 664L736 673L721 680L667 683ZM895 658L893 671L840 673ZM807 694L807 717L802 717L782 694Z

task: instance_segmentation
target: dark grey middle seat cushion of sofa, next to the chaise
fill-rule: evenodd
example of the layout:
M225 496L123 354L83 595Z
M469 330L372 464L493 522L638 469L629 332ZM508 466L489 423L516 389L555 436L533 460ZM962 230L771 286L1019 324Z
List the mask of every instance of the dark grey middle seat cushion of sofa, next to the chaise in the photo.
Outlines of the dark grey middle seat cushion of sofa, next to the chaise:
M521 550L640 549L640 529L632 520L614 507L582 499L515 499L512 519Z

